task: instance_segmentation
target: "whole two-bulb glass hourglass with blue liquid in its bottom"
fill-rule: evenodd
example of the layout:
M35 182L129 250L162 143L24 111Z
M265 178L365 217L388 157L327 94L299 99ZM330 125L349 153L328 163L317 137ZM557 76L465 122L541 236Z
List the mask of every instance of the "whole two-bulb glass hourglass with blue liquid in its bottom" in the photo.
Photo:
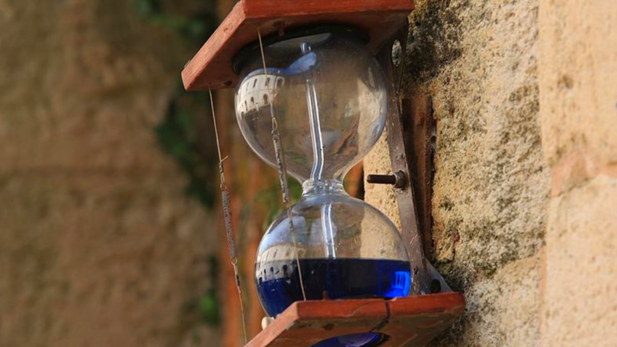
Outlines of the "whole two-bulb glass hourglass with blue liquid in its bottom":
M387 89L378 63L346 30L263 50L266 70L259 51L243 66L236 117L255 153L276 166L273 112L288 173L303 187L292 220L286 212L279 215L257 251L255 283L263 309L275 317L303 299L302 289L307 299L407 296L410 263L396 227L342 186L383 132ZM355 335L341 339L379 340L378 334Z

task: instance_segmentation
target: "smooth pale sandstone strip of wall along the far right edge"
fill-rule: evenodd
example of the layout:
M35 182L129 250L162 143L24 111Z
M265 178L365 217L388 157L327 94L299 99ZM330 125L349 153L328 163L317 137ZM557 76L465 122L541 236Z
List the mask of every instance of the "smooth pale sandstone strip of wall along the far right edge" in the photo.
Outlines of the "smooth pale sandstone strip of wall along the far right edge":
M617 2L540 1L540 115L552 176L542 285L546 346L617 331Z

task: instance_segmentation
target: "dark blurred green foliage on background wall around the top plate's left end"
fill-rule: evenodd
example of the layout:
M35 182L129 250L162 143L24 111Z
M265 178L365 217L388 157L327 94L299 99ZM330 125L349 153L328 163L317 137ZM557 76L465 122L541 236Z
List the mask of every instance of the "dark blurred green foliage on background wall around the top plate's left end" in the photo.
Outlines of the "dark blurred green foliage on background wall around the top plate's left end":
M217 26L212 6L183 14L166 5L162 0L133 0L136 15L152 25L168 28L190 46L201 46ZM187 175L186 193L211 208L217 197L217 158L211 141L206 141L212 138L207 104L209 99L204 93L186 93L178 76L165 117L155 132L160 146Z

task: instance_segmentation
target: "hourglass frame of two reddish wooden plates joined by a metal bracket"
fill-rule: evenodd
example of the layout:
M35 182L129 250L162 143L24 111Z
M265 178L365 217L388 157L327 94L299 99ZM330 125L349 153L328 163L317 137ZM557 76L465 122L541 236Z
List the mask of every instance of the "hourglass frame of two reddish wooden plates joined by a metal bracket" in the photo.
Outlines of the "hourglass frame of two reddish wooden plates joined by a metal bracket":
M402 46L407 41L407 15L413 0L240 0L223 20L217 31L184 67L182 79L188 91L232 88L238 83L233 61L238 52L258 38L283 35L284 31L307 25L347 25L368 35L366 47L378 56L391 82L400 82L402 66L391 65L392 40ZM396 92L389 94L390 103L398 105ZM398 107L389 114L392 167L402 169L410 177L410 162L405 159L402 115ZM399 130L392 131L392 128ZM415 135L415 134L414 134ZM424 135L424 134L423 134ZM392 143L397 143L392 145ZM399 155L401 153L402 155ZM394 152L392 152L394 151ZM426 156L423 156L426 157ZM401 204L401 201L404 203ZM412 245L420 235L413 200L413 187L408 180L399 196L402 230L405 242ZM428 208L428 207L427 207ZM425 222L426 224L426 222ZM425 236L426 237L426 236ZM423 278L426 293L429 278L421 243L413 243L413 273ZM407 298L342 299L298 301L288 307L246 347L310 347L331 337L350 333L378 332L388 339L381 346L399 347L413 343L423 346L442 333L465 310L462 293L439 293Z

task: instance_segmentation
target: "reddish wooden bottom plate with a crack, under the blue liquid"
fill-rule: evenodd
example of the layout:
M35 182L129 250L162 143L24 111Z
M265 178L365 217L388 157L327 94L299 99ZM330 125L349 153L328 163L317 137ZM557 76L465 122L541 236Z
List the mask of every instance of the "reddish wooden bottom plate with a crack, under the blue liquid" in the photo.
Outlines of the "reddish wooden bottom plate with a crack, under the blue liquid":
M383 299L299 301L292 304L246 347L310 347L326 338L382 332L383 346L412 342L423 346L443 332L465 309L461 293Z

